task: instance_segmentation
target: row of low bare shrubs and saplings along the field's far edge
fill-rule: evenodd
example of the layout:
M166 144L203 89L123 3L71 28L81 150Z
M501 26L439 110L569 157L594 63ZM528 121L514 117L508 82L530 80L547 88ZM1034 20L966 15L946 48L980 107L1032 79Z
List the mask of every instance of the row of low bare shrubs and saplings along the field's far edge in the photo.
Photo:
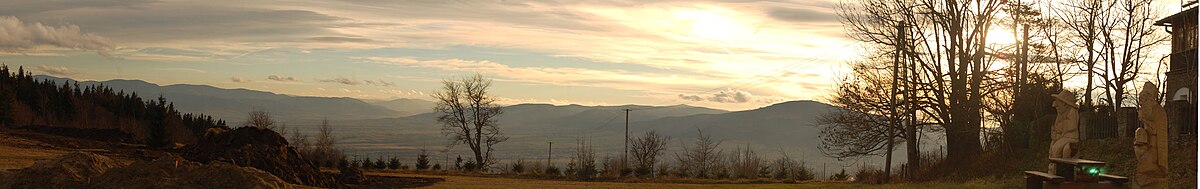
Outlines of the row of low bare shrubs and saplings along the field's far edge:
M630 139L629 160L620 157L596 158L592 145L580 141L565 170L541 161L518 159L504 165L502 172L542 177L562 177L578 181L640 178L640 179L774 179L797 182L812 179L814 175L804 161L792 159L780 152L776 159L767 159L749 146L721 150L721 141L698 133L691 145L682 146L683 152L667 157L670 138L648 132ZM668 163L666 158L673 158Z

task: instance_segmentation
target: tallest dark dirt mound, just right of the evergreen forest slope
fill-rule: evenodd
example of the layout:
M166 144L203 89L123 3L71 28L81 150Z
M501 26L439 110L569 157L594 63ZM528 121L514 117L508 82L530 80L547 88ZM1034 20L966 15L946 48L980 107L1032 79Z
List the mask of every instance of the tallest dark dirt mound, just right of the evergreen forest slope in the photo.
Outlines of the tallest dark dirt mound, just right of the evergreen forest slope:
M256 167L295 184L334 187L336 183L288 147L287 139L269 129L241 127L209 135L185 147L184 158Z

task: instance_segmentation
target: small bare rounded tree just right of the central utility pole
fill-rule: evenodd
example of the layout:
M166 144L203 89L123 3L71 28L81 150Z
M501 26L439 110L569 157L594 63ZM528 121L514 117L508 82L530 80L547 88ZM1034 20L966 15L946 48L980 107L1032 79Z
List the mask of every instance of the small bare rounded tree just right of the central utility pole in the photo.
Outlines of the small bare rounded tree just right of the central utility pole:
M654 172L654 165L659 163L662 151L667 150L671 138L658 132L647 132L642 138L634 139L630 153L634 156L634 172L640 176L649 176Z

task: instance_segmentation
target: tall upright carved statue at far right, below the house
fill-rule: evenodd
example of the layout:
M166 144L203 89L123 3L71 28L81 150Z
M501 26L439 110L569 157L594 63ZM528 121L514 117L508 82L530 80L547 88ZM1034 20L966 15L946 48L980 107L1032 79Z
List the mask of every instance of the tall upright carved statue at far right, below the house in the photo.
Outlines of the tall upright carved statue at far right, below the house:
M1158 105L1158 86L1146 83L1138 96L1138 120L1141 128L1134 132L1134 154L1138 169L1134 187L1139 189L1166 188L1166 110Z

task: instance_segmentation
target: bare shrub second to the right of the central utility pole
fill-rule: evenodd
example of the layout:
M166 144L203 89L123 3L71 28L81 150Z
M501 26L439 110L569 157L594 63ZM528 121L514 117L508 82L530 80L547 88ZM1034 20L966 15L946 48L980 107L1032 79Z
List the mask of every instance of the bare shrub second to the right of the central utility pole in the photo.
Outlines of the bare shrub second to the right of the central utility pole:
M683 145L683 154L676 153L676 161L679 163L683 173L697 178L709 178L724 171L721 163L721 141L713 140L710 135L696 129L696 142L694 147Z

